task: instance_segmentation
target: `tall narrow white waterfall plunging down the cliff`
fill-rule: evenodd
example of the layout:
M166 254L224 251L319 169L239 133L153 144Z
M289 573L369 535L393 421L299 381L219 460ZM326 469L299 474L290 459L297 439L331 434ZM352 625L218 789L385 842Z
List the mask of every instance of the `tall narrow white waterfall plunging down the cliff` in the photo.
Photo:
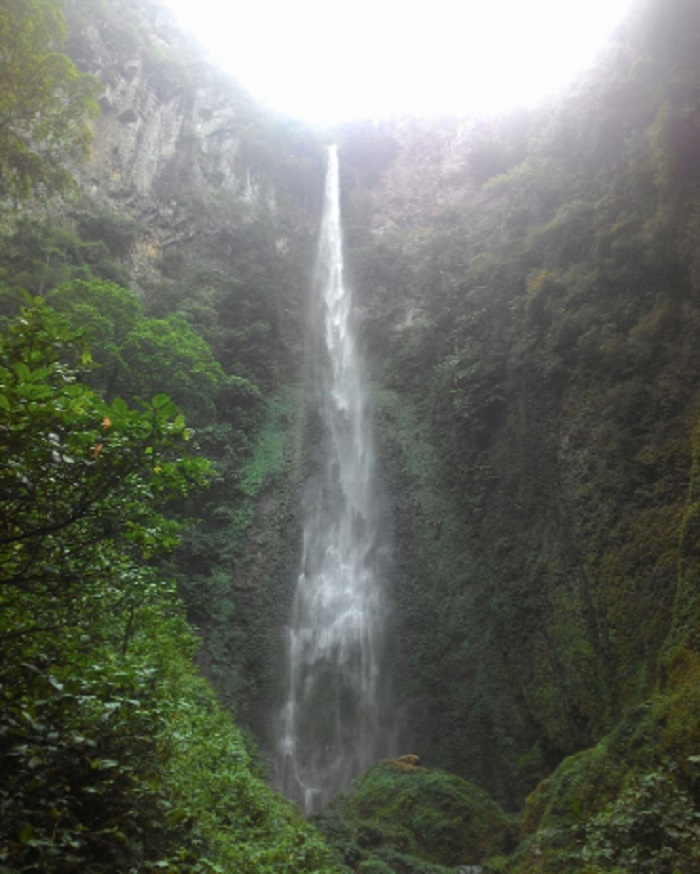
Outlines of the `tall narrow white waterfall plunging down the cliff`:
M338 154L330 147L318 259L325 469L307 484L282 712L282 791L313 813L380 754L382 548L367 386L343 278Z

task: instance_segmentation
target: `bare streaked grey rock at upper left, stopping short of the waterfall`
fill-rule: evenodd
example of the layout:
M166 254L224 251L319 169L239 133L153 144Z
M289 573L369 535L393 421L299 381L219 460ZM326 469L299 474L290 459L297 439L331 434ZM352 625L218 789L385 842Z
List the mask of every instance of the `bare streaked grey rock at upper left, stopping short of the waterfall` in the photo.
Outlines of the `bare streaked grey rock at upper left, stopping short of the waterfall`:
M73 22L68 49L104 87L80 182L137 214L157 208L162 224L177 223L183 197L204 200L213 190L253 213L274 210L272 187L241 156L242 130L255 111L248 95L212 69L162 10L132 3L120 12L123 20Z

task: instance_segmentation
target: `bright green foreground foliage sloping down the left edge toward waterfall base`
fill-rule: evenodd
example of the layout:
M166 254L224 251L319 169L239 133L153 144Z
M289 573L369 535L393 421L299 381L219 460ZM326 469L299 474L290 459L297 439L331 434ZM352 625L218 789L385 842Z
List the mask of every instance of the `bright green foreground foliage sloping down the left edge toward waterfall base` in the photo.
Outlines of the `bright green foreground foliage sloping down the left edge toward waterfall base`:
M22 871L331 870L191 664L154 560L202 484L165 395L129 407L29 301L0 342L0 859Z

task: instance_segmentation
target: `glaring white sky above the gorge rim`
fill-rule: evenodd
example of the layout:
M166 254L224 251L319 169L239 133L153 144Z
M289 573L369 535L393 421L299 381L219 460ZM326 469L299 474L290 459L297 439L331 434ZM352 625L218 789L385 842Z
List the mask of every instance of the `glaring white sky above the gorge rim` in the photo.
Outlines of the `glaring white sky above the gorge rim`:
M559 90L631 0L165 0L255 97L316 124L490 113Z

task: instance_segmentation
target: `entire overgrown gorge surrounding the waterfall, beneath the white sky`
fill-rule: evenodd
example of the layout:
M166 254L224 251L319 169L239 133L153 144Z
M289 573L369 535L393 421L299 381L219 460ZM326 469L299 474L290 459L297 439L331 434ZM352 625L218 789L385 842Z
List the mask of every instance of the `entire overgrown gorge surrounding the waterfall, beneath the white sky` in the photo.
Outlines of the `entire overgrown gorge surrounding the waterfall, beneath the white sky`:
M700 870L697 4L638 0L539 107L332 132L256 105L156 2L66 19L92 154L66 158L75 188L6 197L0 229L0 864ZM355 363L324 385L329 355ZM151 398L147 427L128 410ZM130 433L163 463L103 506ZM209 471L180 481L189 452ZM99 520L30 561L103 462ZM167 556L170 522L123 515L161 476ZM20 553L43 576L18 584ZM337 638L309 630L331 553L361 582ZM324 678L346 656L359 679ZM421 766L373 764L399 753ZM122 807L86 825L83 786Z

